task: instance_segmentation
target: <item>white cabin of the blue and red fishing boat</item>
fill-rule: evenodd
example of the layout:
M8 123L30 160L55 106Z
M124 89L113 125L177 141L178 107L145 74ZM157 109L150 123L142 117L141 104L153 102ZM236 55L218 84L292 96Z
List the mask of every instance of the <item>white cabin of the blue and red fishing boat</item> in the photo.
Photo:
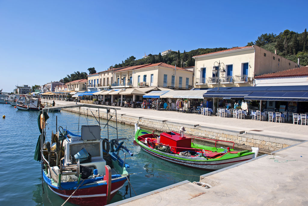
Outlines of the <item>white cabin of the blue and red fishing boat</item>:
M100 175L105 175L106 160L103 159L103 141L100 139L100 126L83 125L81 137L71 137L64 140L64 164L73 164L72 157L83 148L91 155L90 161L81 161L80 164L92 169L97 169Z

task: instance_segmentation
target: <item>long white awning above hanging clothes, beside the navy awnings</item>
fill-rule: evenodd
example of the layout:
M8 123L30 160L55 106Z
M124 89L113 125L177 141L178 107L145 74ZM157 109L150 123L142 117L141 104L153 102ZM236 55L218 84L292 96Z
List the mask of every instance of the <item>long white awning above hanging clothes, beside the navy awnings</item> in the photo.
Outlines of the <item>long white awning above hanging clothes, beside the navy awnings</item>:
M174 90L160 96L160 98L203 99L207 90Z

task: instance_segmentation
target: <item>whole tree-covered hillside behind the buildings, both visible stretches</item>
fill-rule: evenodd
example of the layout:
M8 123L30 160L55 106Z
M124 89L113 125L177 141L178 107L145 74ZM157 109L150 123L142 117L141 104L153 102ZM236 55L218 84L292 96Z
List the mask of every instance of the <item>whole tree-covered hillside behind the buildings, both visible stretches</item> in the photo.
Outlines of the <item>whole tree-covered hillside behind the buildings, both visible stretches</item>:
M247 43L246 46L252 45L257 45L273 53L275 52L275 49L277 49L277 54L280 56L283 56L294 62L297 62L297 58L300 58L301 65L308 64L308 45L306 29L301 34L289 30L285 30L279 35L273 33L265 33L260 35L256 41ZM195 61L192 58L193 56L207 54L215 51L221 51L225 49L228 48L199 48L188 52L184 50L183 53L180 53L180 51L172 51L170 54L164 56L161 56L160 53L158 55L149 54L147 58L138 60L136 60L136 57L130 56L126 60L122 61L122 63L115 64L113 68L136 66L142 64L155 64L159 62L176 65L177 67L189 67L195 65Z

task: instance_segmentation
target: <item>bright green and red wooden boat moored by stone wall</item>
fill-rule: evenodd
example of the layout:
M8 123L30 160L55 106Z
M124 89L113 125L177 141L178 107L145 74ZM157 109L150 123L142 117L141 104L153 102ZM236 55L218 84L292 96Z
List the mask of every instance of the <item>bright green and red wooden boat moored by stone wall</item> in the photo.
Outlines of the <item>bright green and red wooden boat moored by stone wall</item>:
M219 170L253 159L257 156L259 150L257 147L252 147L252 152L249 150L237 151L234 150L234 142L229 142L233 143L232 149L229 147L226 149L217 148L217 142L228 141L213 139L206 140L215 141L214 147L200 145L194 143L195 137L183 135L184 127L181 129L179 133L171 131L155 134L135 125L135 141L142 149L153 156L202 170Z

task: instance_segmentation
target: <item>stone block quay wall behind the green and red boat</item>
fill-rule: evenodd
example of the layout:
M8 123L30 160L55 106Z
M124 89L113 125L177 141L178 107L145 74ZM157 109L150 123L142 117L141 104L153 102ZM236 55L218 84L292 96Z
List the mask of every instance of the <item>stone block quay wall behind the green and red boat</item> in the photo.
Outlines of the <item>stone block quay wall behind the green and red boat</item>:
M79 113L78 108L72 109L64 109L67 111ZM103 111L99 111L98 109L80 109L80 113L84 115L92 115L93 112L95 117L107 119L107 112L105 109ZM112 113L112 109L111 109ZM112 116L111 121L115 121L115 115ZM235 142L234 148L251 150L251 147L259 147L259 151L264 154L270 154L270 152L279 150L290 145L294 145L298 143L297 140L292 140L288 138L279 138L271 135L257 135L257 134L240 134L239 131L235 130L224 130L217 129L208 126L198 126L192 125L188 123L178 123L172 121L158 121L156 119L147 118L147 117L139 117L138 115L126 115L126 114L118 114L117 121L121 124L129 124L134 125L134 123L138 123L138 126L144 127L150 130L158 130L158 131L179 131L180 127L185 127L185 134L192 135L197 137L199 140L203 140L200 138L209 138L211 140L204 140L206 142L215 143L215 140L229 141ZM229 142L217 142L217 144L222 146L233 146L233 143Z

